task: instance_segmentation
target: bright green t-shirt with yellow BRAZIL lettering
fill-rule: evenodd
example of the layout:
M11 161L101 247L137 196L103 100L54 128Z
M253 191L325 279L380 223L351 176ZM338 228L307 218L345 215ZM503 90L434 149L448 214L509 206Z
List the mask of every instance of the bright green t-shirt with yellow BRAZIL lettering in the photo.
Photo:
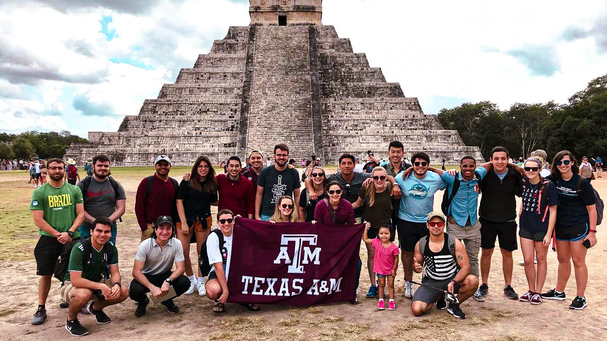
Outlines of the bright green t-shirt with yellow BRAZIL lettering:
M72 227L74 220L76 220L76 204L82 203L84 203L82 191L73 184L69 184L66 181L63 183L63 186L55 188L46 183L33 192L30 210L44 211L44 220L53 229L59 232L66 232ZM38 233L53 237L47 232L42 231L42 229L39 229ZM80 237L78 229L74 232L73 237Z

